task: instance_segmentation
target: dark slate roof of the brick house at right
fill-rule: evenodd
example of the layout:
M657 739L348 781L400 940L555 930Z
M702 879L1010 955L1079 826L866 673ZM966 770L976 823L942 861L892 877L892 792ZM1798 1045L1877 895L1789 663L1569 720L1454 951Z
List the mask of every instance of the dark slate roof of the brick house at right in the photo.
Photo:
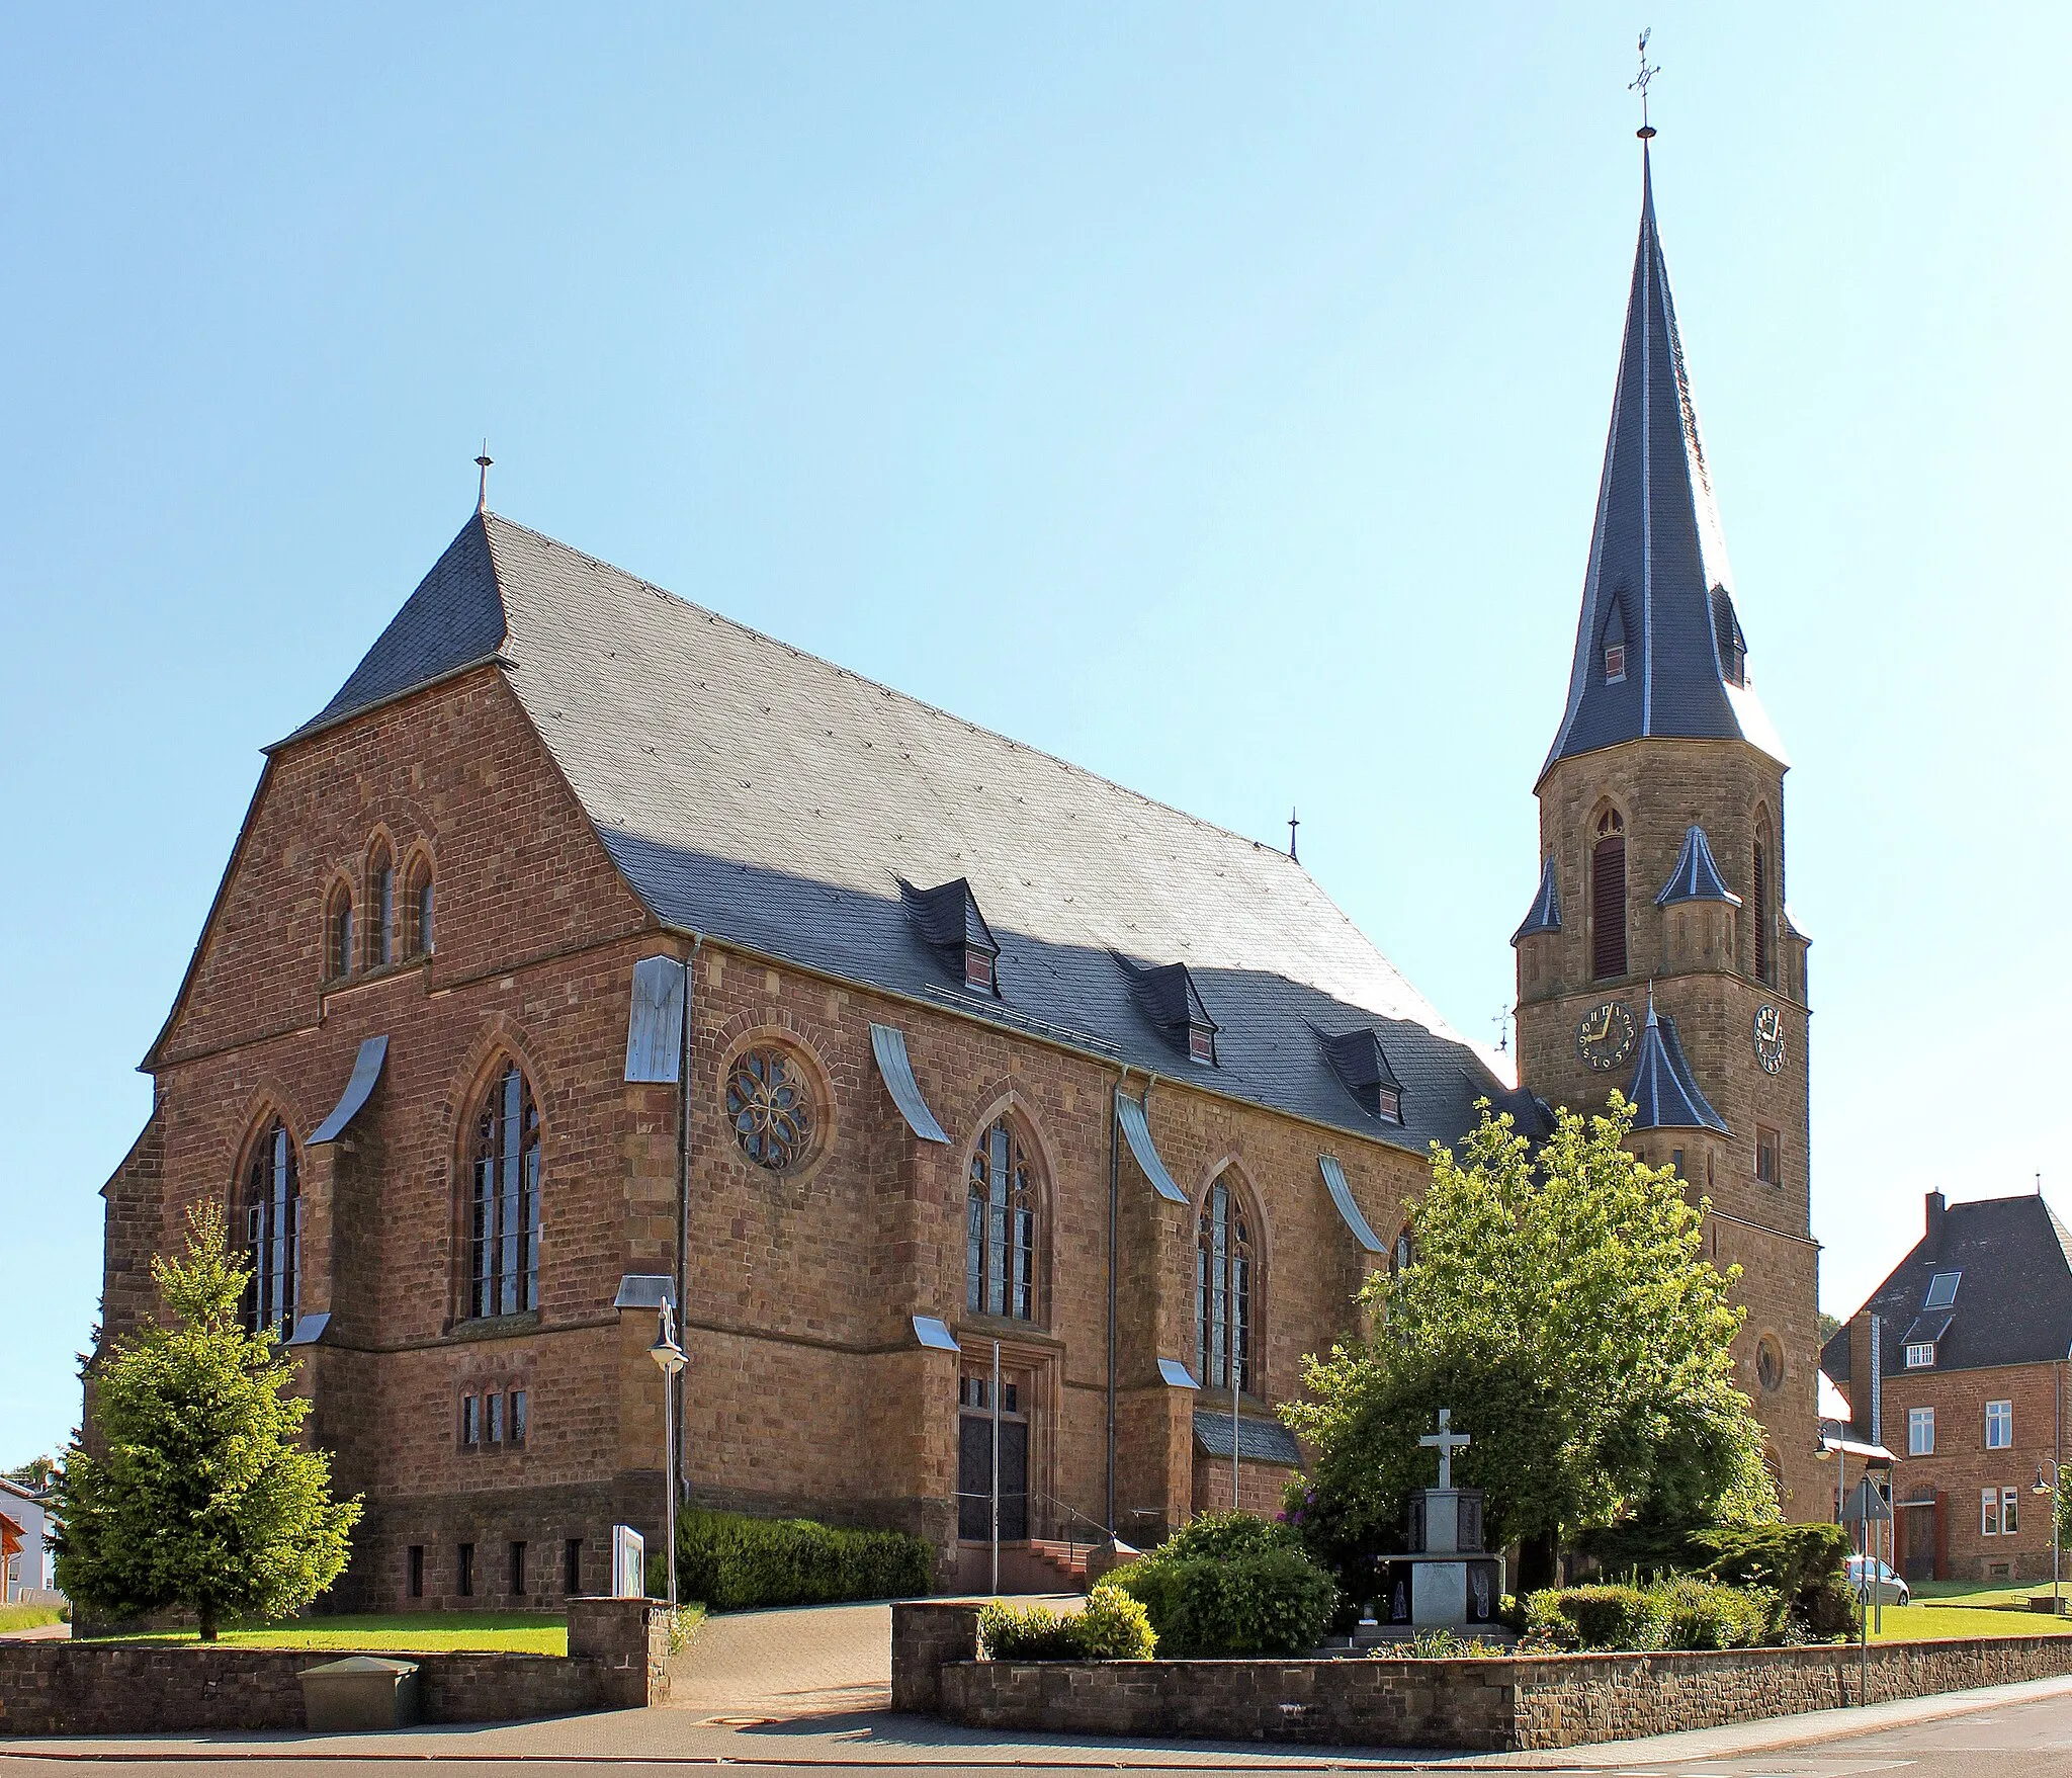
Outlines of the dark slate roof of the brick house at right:
M1948 1310L1927 1308L1937 1272L1964 1274ZM1883 1322L1886 1376L1906 1374L1906 1335L1925 1339L1917 1328L1933 1328L1946 1314L1937 1372L2064 1359L2072 1355L2072 1233L2033 1194L1950 1204L1941 1239L1923 1235L1857 1314L1865 1310ZM1821 1347L1821 1370L1836 1382L1850 1380L1848 1322Z

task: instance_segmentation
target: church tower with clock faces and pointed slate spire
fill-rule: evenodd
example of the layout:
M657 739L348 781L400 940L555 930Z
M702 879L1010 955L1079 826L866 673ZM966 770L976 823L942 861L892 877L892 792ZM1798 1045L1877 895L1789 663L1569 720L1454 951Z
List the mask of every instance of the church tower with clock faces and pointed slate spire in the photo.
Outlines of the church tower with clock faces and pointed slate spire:
M1647 131L1645 135L1653 135ZM1784 912L1786 756L1755 692L1641 147L1641 238L1569 700L1539 773L1519 1078L1635 1105L1633 1150L1711 1200L1740 1386L1790 1519L1825 1517L1807 1167L1807 941Z

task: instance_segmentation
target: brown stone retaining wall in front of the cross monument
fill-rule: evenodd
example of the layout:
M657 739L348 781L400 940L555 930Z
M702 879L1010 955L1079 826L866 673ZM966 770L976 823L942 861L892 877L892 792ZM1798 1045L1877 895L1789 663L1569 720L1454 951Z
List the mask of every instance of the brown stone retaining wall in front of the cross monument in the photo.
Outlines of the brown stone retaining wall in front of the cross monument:
M974 1606L893 1606L893 1708L990 1730L1515 1751L2055 1679L2072 1672L2072 1637L1883 1643L1867 1660L1840 1645L1496 1660L976 1656Z

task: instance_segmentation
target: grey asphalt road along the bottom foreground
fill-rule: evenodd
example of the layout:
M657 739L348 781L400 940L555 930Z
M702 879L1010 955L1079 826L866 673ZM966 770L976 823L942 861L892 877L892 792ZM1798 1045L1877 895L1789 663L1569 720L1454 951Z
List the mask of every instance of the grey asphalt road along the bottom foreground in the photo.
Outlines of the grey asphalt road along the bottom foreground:
M1772 1753L1728 1753L1693 1751L1689 1757L1645 1757L1664 1749L1664 1743L1635 1743L1622 1753L1618 1747L1591 1747L1573 1753L1542 1755L1436 1755L1411 1770L1436 1772L1490 1772L1490 1770L1535 1770L1535 1772L1589 1772L1595 1778L1854 1778L1871 1772L1904 1772L1908 1778L1981 1778L1981 1774L2020 1774L2020 1778L2072 1778L2072 1689L2049 1697L2028 1697L2022 1701L1993 1703L1962 1716L1946 1716L1931 1722L1912 1722L1863 1732L1854 1728L1848 1712L1836 1712L1823 1720L1823 1730L1832 1732L1815 1745L1792 1747ZM1743 1739L1761 1739L1765 1730L1788 1730L1782 1724L1763 1724L1749 1730L1734 1730ZM976 1749L932 1749L932 1757L916 1763L895 1763L870 1757L862 1749L845 1759L833 1747L814 1747L804 1759L779 1757L775 1763L742 1759L748 1749L738 1747L733 1757L702 1755L696 1759L669 1757L667 1753L617 1753L597 1759L584 1757L526 1757L510 1759L495 1755L470 1755L464 1739L454 1737L445 1749L427 1753L412 1749L398 1757L361 1757L346 1753L336 1759L325 1757L276 1757L259 1743L222 1745L215 1749L182 1745L176 1759L153 1757L108 1757L91 1743L68 1747L62 1757L41 1753L12 1753L0 1743L0 1778L195 1778L197 1772L234 1772L238 1778L398 1778L398 1768L421 1766L427 1759L441 1763L454 1778L578 1778L578 1774L615 1774L628 1778L632 1772L713 1772L725 1768L727 1778L798 1778L804 1768L835 1772L868 1772L870 1778L893 1772L924 1772L928 1778L999 1778L1003 1768L1011 1768L1017 1778L1042 1778L1042 1774L1084 1774L1088 1770L1144 1770L1156 1766L1160 1774L1202 1770L1227 1774L1247 1770L1247 1749L1218 1749L1198 1768L1175 1761L1171 1751L1156 1747L1109 1747L1088 1749L1086 1755L1061 1759L1057 1766L1036 1763L1044 1755L1042 1745L995 1743L982 1753ZM804 1751L804 1749L802 1749ZM963 1755L970 1757L959 1759ZM1641 1755L1641 1757L1633 1757ZM1368 1759L1351 1755L1318 1755L1305 1759L1293 1751L1260 1749L1258 1763L1249 1770L1293 1772L1345 1772L1345 1770L1405 1770L1407 1761Z

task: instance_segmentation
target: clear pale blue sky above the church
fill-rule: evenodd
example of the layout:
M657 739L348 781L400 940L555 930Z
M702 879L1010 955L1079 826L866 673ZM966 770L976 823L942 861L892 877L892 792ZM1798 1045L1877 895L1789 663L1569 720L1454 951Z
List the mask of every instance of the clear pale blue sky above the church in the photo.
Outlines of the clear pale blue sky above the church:
M499 510L1303 860L1494 1036L1656 174L1828 1308L2068 1185L2072 12L15 8L0 1463L259 773ZM2072 1202L2072 1200L2068 1200Z

